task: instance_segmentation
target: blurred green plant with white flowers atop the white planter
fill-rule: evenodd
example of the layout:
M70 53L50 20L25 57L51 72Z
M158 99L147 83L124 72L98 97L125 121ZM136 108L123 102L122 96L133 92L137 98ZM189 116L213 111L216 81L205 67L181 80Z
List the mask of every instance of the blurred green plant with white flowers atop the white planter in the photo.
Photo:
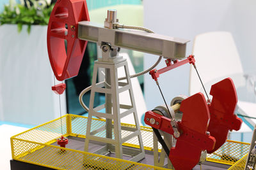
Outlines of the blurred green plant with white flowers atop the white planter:
M18 32L22 30L22 25L28 25L27 31L30 32L31 25L48 24L53 6L51 0L20 0L20 4L10 0L0 14L0 25L17 24Z

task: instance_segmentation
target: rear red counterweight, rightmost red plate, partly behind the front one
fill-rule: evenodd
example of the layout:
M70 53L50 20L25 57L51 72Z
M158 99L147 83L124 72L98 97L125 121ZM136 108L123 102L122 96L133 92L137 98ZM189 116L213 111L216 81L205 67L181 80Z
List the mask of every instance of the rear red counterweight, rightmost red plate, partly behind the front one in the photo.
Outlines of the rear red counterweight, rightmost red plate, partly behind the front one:
M212 102L209 105L211 120L208 131L216 139L213 153L220 148L227 140L228 131L238 131L241 128L242 120L234 115L237 104L237 94L231 78L226 78L211 87Z

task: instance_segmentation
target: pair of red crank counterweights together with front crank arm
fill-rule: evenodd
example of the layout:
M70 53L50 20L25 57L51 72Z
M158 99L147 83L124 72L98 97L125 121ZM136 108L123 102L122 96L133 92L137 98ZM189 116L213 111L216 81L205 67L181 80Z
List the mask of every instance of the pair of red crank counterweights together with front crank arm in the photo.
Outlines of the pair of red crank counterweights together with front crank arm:
M192 169L198 163L202 150L215 152L227 140L228 131L238 131L241 127L241 118L234 115L237 94L231 78L212 85L210 94L211 104L207 105L201 93L184 99L180 104L183 113L181 122L177 122L180 136L169 153L176 170ZM155 129L174 134L171 121L175 120L148 111L144 121Z

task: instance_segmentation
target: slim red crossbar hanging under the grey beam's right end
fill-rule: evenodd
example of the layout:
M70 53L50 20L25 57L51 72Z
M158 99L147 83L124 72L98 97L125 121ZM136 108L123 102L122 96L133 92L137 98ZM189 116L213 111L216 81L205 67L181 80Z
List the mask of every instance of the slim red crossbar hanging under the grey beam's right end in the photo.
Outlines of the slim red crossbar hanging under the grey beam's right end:
M187 63L195 65L195 58L194 58L194 55L189 55L189 57L187 59L184 59L181 61L178 61L178 60L173 61L173 64L172 64L172 60L170 60L170 59L165 60L165 63L166 63L166 67L163 67L162 69L159 69L159 70L152 69L149 72L149 74L152 76L152 78L155 81L157 81L157 78L159 78L160 74L165 73L166 71L175 69L176 67L182 66Z

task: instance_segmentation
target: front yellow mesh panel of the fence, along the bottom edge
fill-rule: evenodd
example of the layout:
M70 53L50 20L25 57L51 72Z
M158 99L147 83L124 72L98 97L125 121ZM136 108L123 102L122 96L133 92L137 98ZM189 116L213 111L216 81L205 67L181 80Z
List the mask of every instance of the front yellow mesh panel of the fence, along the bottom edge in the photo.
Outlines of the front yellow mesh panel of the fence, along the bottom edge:
M26 143L29 148L34 148L42 144L36 144L28 141L16 141L17 145ZM51 155L51 157L49 157ZM60 150L59 146L42 145L42 148L30 152L16 159L23 162L29 162L40 166L52 167L56 169L154 169L154 166L147 166L137 162L131 162L122 159L104 157L93 153L81 152L65 148ZM159 168L157 169L164 169Z

